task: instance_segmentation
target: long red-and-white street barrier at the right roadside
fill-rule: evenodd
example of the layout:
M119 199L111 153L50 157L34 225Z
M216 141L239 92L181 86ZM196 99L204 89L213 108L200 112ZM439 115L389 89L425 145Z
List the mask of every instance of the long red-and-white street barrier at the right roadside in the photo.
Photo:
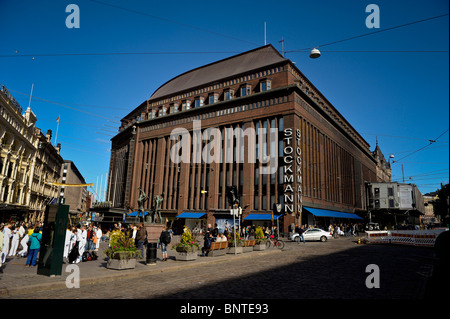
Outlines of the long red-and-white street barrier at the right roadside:
M446 229L366 231L366 243L434 247Z

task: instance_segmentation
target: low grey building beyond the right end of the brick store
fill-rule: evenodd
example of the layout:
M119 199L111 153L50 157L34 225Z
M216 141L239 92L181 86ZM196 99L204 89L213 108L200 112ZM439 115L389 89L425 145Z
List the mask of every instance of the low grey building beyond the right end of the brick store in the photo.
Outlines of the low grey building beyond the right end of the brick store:
M418 225L425 213L424 197L414 184L367 183L370 219L388 228Z

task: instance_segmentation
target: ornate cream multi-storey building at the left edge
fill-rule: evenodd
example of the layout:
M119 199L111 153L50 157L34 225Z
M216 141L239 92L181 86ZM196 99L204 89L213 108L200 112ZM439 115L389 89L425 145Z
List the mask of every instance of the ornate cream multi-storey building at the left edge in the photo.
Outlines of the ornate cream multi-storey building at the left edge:
M43 221L45 205L56 198L61 146L35 127L36 115L22 107L5 86L0 91L0 221Z

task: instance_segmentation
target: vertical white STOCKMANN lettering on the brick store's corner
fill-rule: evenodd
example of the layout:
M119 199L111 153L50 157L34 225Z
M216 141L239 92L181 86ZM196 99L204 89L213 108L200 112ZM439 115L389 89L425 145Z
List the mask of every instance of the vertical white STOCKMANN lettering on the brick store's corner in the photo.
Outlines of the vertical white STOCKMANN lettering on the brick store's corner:
M284 130L283 176L284 176L284 211L288 214L302 212L302 150L299 129L293 134L292 128ZM297 182L297 183L295 183ZM297 185L295 185L297 184Z

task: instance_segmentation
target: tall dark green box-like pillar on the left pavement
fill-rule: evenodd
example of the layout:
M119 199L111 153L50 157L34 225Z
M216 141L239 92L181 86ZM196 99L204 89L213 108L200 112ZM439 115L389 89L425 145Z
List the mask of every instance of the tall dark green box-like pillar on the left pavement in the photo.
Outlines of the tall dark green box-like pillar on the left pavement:
M37 273L61 276L69 205L47 205Z

